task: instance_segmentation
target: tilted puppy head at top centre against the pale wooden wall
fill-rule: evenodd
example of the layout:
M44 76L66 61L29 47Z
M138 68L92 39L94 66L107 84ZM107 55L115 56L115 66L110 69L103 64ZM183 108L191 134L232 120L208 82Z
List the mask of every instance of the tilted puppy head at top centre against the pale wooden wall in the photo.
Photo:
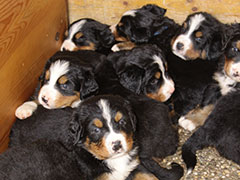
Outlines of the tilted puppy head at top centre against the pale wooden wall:
M164 16L166 9L148 4L125 12L117 25L111 27L116 41L146 43L155 33L154 26Z

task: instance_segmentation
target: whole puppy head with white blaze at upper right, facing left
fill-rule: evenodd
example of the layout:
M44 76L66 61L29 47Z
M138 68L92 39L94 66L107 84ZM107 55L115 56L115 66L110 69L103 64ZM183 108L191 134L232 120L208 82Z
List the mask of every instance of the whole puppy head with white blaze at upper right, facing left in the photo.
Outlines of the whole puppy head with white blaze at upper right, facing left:
M191 14L172 40L172 51L184 60L216 59L222 54L224 26L205 12Z

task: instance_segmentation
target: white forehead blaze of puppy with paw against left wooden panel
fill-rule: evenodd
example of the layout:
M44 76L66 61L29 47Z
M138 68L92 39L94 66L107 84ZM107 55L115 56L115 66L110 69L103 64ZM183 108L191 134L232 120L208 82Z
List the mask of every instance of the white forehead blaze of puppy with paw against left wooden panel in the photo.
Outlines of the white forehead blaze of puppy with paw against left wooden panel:
M58 60L54 62L50 69L49 86L55 86L57 80L69 71L69 62Z

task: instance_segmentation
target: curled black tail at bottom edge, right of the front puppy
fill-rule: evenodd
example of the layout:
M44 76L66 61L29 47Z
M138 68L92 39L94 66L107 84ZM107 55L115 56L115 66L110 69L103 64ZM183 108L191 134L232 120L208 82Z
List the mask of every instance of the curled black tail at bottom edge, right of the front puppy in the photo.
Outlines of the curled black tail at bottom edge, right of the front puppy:
M161 167L156 161L151 158L141 159L141 163L145 166L148 171L154 174L158 179L161 180L179 180L184 173L182 166L177 163L172 163L171 169Z

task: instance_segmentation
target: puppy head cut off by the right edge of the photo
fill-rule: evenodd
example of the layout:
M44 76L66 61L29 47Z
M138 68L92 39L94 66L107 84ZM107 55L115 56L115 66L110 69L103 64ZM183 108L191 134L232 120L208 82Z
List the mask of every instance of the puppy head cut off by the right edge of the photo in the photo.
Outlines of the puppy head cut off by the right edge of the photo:
M240 82L240 24L233 24L232 37L225 50L225 73L236 82Z

